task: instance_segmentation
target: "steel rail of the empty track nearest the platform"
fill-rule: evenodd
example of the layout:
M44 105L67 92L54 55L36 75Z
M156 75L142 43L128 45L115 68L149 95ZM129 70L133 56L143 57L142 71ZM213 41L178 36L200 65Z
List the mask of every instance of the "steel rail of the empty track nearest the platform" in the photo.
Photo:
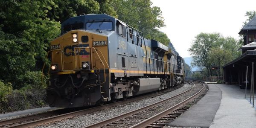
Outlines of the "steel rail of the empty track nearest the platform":
M195 81L195 82L198 82L198 81ZM198 82L198 83L202 84L201 82ZM155 116L152 116L136 125L133 125L130 128L145 128L148 125L150 125L151 123L159 120L163 116L166 116L167 114L171 113L172 111L176 110L177 108L180 108L182 105L186 104L187 102L190 102L192 99L199 96L205 90L206 87L204 86L204 84L202 84L202 85L203 85L203 88L198 93L195 93L193 96L190 96L188 99L184 100L183 102L180 102L179 104L177 104L165 111L162 111L162 112L156 114Z

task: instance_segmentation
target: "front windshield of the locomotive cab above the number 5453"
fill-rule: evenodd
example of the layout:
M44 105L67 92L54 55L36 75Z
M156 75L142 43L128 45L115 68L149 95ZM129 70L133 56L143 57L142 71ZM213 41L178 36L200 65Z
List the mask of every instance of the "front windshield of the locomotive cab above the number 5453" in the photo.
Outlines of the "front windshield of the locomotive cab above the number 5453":
M86 29L90 30L112 30L112 22L88 22Z

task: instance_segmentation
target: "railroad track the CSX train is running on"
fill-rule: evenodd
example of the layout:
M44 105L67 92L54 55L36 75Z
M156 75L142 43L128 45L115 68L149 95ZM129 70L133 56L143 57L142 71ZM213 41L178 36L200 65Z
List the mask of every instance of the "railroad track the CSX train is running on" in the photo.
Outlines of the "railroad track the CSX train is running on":
M176 86L169 90L164 90L164 91L160 91L157 93L150 93L150 94L134 97L131 99L127 99L125 101L120 101L120 102L107 104L107 105L103 105L103 106L97 106L94 108L88 108L85 110L81 110L81 108L80 108L80 110L79 109L76 109L76 110L59 109L59 110L55 110L55 111L47 111L44 113L37 113L37 114L33 114L33 115L28 115L28 116L21 116L21 117L14 118L14 119L2 120L2 121L0 121L0 128L26 128L26 127L33 127L33 126L37 126L37 125L47 124L47 123L55 122L55 121L58 121L61 119L67 119L67 118L70 118L73 116L79 116L82 114L99 111L102 109L107 109L107 108L125 104L128 102L134 102L134 101L141 100L141 99L144 99L149 96L159 96L159 95L162 95L163 93L171 92L180 87L181 86ZM77 110L79 110L79 111L77 111Z

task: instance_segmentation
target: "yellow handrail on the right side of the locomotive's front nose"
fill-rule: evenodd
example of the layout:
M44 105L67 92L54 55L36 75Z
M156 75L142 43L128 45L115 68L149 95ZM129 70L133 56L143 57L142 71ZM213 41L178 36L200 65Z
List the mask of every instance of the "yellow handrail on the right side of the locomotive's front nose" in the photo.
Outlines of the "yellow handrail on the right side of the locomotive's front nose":
M102 65L103 65L103 67L104 67L104 82L102 82L101 84L104 84L104 83L106 82L106 70L105 70L105 64L103 63L102 59L100 58L100 56L99 56L99 54L98 54L98 52L97 52L97 50L99 50L99 49L96 50L95 47L75 47L74 49L75 49L75 52L76 52L76 49L80 50L80 49L86 49L86 48L89 48L90 51L91 51L91 49L93 49L93 50L96 52L97 56L99 57L99 60L102 62ZM99 51L100 51L100 50L99 50ZM101 51L100 51L100 52L101 52ZM101 54L102 54L102 52L101 52ZM104 58L106 64L108 65L108 63L107 63L105 57L103 56L103 54L102 54L102 57ZM91 59L91 65L93 66L93 58L92 58L91 52L90 52L90 59ZM76 54L75 54L75 67L76 67L76 69L77 69L77 55L76 55ZM108 67L109 67L109 66L108 66ZM96 67L96 68L97 68L97 67ZM95 68L95 69L96 69L96 68ZM93 69L93 68L92 68L92 69Z

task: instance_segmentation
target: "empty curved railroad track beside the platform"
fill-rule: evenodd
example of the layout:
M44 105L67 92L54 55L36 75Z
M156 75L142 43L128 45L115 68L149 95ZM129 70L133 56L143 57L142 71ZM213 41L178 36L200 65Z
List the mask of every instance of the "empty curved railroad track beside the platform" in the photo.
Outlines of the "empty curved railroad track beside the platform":
M188 81L192 82L192 81ZM84 128L159 128L165 125L166 122L177 118L181 113L189 108L189 102L192 102L204 90L204 84L193 81L193 87L189 90L164 99L160 102L139 108L137 110L115 116L101 122L88 125ZM181 100L175 100L182 97ZM173 106L170 106L173 105Z

